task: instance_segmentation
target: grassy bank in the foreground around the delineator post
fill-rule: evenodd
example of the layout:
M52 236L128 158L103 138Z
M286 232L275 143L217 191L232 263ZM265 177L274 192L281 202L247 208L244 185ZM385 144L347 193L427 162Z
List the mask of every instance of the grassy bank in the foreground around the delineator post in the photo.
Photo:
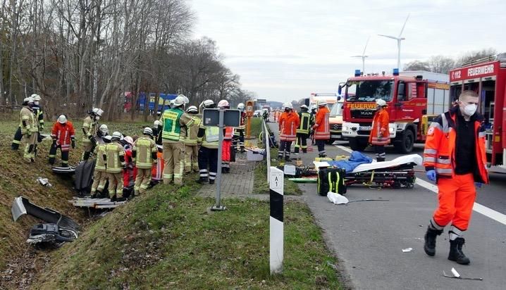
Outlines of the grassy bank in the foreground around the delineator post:
M285 204L285 263L269 275L269 203L195 196L198 184L154 187L55 253L40 289L338 289L335 258L307 206Z

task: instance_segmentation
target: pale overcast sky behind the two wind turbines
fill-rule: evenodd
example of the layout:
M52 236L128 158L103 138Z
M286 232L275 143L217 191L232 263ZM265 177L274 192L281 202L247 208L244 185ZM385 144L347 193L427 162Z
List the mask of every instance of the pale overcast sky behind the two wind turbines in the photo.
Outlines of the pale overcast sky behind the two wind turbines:
M401 67L433 55L458 57L493 47L506 52L504 0L190 0L196 38L216 40L242 88L261 99L290 101L311 92L336 92L362 68L391 72L402 37Z

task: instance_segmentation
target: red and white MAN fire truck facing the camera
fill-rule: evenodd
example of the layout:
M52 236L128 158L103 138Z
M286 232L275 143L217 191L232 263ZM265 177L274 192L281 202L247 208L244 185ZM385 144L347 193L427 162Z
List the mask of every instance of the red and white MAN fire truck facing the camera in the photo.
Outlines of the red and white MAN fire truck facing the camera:
M410 153L416 142L424 142L430 121L448 110L448 75L426 71L406 71L393 75L363 75L359 70L345 84L343 138L355 151L368 146L376 99L386 101L390 115L390 141L400 153Z

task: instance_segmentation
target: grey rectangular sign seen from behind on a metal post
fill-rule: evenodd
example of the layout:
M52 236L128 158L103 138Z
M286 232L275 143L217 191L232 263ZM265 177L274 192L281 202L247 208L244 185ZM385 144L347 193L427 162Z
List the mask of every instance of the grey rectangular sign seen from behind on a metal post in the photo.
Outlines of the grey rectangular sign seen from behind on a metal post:
M211 210L226 210L221 205L221 154L223 152L223 129L226 126L239 127L240 111L223 108L204 109L202 112L204 126L218 126L218 168L216 172L216 203L211 206Z

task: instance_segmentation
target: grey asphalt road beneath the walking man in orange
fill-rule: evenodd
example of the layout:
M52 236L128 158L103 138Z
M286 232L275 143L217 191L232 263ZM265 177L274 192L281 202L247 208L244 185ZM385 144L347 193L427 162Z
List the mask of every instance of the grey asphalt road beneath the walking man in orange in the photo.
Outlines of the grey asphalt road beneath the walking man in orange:
M270 123L270 127L277 134L278 126ZM348 154L346 146L347 142L343 141L328 145L327 155ZM309 165L317 156L314 149L301 154L304 165ZM417 146L414 153L421 155L422 151L423 146ZM374 156L370 149L365 153ZM393 147L387 149L387 160L398 156ZM428 182L423 172L417 177ZM355 289L506 289L506 225L502 222L474 212L464 235L464 253L471 259L471 265L458 265L447 259L446 232L438 237L436 256L428 257L424 253L424 233L437 206L436 194L426 187L415 184L413 189L369 189L353 185L346 194L350 201L364 198L385 201L347 205L334 205L319 196L316 184L300 184L300 187L323 228L328 247L340 260L344 277ZM491 184L479 189L476 202L506 214L505 191L506 175L493 174ZM413 251L402 253L405 248ZM462 277L479 277L483 281L443 277L443 270L451 275L452 267Z

